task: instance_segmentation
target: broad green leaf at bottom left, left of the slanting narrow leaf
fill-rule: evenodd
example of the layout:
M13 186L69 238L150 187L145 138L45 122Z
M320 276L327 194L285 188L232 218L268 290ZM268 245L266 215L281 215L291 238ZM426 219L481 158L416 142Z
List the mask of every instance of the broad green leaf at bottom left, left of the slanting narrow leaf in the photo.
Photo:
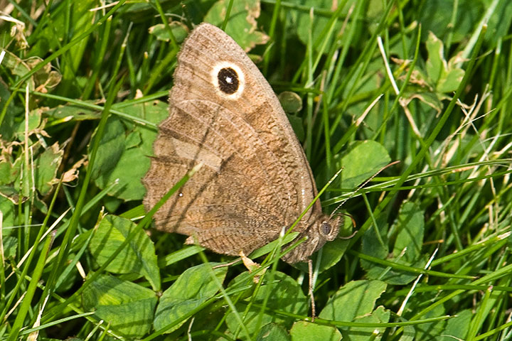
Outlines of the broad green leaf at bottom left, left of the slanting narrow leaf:
M151 330L156 295L148 288L101 275L82 293L86 310L126 337L142 337Z

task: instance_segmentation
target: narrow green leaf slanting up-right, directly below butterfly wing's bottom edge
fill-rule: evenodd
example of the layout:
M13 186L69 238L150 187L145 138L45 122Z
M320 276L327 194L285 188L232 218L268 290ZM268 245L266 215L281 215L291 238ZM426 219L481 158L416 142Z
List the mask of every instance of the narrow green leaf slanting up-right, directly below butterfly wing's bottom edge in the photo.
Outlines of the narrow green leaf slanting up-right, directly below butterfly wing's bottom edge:
M217 263L201 264L186 269L176 282L173 283L160 298L156 308L154 328L159 330L174 323L183 315L191 313L218 292L219 287L212 279L212 271L220 283L223 283L228 272L227 266L211 269ZM166 330L172 332L180 328L186 320L181 321L173 328Z

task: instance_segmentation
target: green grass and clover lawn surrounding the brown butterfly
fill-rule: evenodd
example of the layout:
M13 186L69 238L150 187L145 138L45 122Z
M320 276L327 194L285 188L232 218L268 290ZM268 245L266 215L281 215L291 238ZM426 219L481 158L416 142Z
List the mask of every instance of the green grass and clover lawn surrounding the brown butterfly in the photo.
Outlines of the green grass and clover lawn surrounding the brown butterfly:
M0 340L511 338L508 0L47 3L0 19ZM233 257L143 218L202 21L302 99L289 118L318 187L343 168L321 201L357 233L313 257L314 322L306 267L279 261L288 236L255 271L213 268Z

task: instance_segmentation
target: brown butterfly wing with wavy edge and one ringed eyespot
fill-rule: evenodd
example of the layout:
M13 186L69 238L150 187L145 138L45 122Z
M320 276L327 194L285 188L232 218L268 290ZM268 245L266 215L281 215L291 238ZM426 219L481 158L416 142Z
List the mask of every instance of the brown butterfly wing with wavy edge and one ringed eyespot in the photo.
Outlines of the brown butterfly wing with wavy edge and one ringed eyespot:
M236 98L214 85L220 64L243 73ZM194 236L222 254L248 254L276 239L313 200L314 179L277 97L220 29L201 24L183 43L170 105L143 180L146 208L197 163L204 166L156 212L157 229ZM321 212L319 203L313 211L297 231Z

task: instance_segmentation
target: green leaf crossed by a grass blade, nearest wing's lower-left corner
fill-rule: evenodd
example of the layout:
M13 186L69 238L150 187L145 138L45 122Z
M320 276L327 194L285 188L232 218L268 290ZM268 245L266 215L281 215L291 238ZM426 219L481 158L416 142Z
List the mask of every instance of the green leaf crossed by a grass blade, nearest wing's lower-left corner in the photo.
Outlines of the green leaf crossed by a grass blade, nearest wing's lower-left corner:
M137 225L130 220L115 215L105 216L89 244L90 253L97 263L100 266L105 264L135 228ZM160 272L154 245L143 229L119 252L107 266L107 271L114 274L140 274L149 281L154 290L160 290Z

